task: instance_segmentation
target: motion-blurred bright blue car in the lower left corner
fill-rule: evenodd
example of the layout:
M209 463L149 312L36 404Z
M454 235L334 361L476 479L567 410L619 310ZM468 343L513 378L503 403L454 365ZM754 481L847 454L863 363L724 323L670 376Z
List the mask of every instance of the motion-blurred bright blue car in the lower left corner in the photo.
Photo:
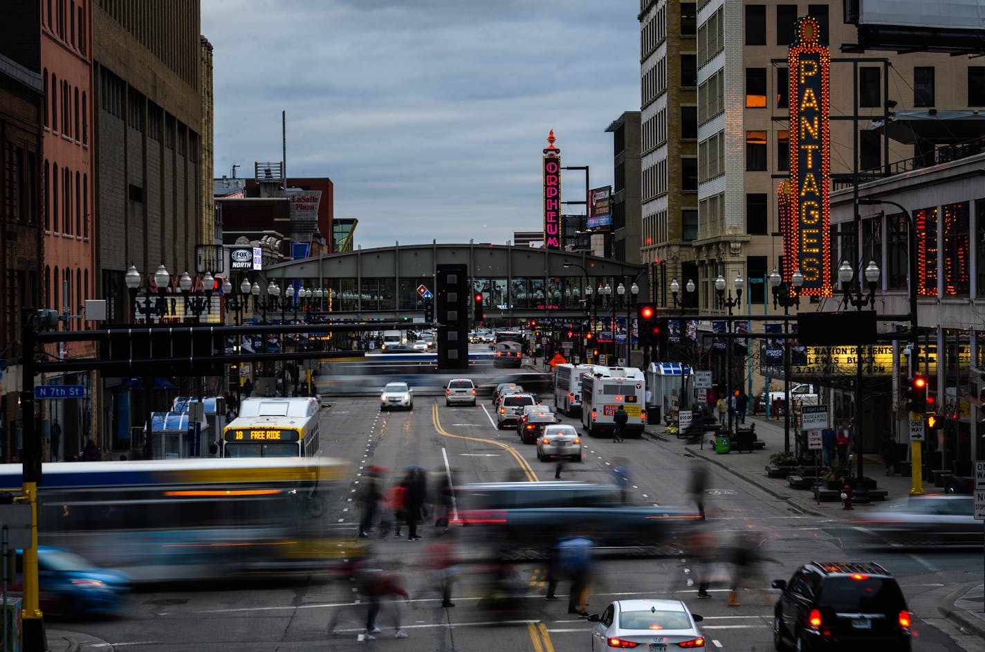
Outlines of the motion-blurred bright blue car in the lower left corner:
M11 591L23 591L23 551L17 551L17 576ZM37 548L37 583L45 616L82 618L109 616L119 611L123 594L130 590L130 576L101 568L81 554L61 548Z

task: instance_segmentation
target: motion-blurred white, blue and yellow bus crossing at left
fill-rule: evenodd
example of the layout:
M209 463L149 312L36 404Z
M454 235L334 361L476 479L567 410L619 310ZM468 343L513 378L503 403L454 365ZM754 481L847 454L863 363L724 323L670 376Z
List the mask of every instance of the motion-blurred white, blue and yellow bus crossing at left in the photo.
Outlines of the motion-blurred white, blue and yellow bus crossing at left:
M38 544L135 582L323 569L358 552L324 515L347 470L329 458L45 464ZM20 491L20 464L0 465L0 486Z

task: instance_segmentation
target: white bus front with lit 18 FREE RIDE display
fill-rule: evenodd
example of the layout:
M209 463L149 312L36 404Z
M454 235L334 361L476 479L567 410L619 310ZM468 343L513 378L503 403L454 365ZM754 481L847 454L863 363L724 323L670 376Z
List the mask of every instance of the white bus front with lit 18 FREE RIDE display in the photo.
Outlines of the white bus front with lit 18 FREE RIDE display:
M318 444L317 399L248 398L223 428L221 457L312 457Z

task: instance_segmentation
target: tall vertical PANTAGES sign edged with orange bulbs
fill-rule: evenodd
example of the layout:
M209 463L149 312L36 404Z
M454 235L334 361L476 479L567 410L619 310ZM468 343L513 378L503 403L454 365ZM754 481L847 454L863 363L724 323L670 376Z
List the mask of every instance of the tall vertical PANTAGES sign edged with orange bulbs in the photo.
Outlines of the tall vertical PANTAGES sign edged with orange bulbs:
M805 17L795 25L787 56L790 77L790 185L792 219L783 233L789 274L800 269L800 293L831 295L830 134L828 70L831 56L821 27ZM784 275L784 280L790 279Z

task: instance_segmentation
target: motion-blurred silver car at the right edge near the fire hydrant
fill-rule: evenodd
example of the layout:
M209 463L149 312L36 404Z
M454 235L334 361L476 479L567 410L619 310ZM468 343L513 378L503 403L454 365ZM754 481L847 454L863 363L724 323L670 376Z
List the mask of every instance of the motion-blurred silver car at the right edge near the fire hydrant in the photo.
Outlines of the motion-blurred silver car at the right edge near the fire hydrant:
M982 545L982 522L975 520L974 496L933 493L893 500L854 521L875 543L907 546Z

